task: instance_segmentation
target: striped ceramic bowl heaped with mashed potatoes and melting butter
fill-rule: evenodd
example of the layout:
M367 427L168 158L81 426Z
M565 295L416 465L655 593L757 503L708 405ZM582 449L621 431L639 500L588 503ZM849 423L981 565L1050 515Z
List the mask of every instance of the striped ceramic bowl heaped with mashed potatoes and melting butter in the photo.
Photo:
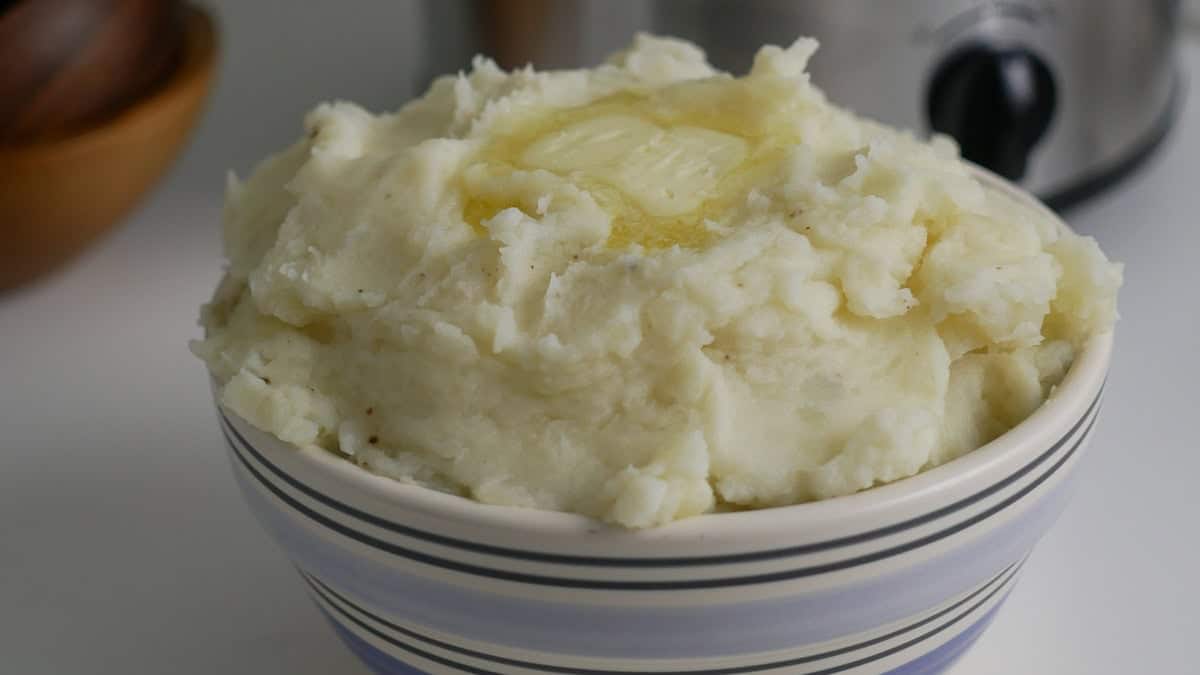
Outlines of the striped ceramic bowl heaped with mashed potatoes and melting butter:
M383 673L935 673L1061 510L1122 281L953 143L640 36L318 106L192 350Z

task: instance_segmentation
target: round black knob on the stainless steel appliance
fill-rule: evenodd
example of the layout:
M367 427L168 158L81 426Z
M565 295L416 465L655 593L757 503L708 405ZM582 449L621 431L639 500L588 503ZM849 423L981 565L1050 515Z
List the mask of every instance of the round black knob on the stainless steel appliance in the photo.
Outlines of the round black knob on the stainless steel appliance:
M934 72L926 104L930 127L964 157L1019 180L1054 118L1054 76L1028 49L966 47Z

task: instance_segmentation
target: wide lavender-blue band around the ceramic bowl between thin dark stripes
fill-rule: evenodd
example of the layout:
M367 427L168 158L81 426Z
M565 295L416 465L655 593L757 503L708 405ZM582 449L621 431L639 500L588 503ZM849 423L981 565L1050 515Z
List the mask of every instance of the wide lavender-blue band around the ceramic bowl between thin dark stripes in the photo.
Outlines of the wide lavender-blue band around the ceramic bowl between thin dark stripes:
M412 563L360 555L350 542L322 536L252 483L240 462L239 485L252 512L304 569L349 597L370 598L376 614L404 617L466 639L533 651L572 651L596 657L692 658L745 650L766 652L818 644L900 621L974 587L1024 557L1066 503L1069 483L1056 483L1007 519L943 555L906 562L850 585L760 601L721 601L706 607L612 608L481 592L414 574ZM1069 476L1069 474L1068 474ZM650 604L646 604L650 603ZM714 607L708 607L713 604ZM707 610L707 611L703 611ZM716 631L720 628L719 631ZM715 631L715 632L714 632ZM694 637L706 634L706 640ZM650 639L650 637L654 639ZM715 638L714 638L715 637Z

